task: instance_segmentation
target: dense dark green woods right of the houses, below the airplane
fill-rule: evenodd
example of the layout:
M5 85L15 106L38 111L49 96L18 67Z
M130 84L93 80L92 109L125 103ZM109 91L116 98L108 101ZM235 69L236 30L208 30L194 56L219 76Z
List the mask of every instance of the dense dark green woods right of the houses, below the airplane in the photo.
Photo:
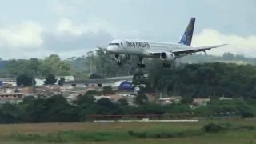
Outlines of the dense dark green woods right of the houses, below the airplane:
M160 61L155 61L148 78L142 73L134 75L134 85L146 85L142 88L146 92L158 93L162 97L256 98L255 66L214 62L180 64L174 69L165 69Z

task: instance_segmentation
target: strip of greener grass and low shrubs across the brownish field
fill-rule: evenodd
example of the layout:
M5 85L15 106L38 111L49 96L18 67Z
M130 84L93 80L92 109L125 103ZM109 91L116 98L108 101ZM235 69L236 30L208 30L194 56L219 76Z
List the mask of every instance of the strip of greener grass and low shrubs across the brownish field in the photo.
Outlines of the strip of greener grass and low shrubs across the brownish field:
M162 130L162 131L161 131ZM193 137L203 137L207 134L218 134L218 133L228 133L228 132L242 132L248 131L254 133L256 126L253 125L236 125L232 123L209 123L201 128L194 128L190 130L128 130L126 134L124 132L114 132L113 130L93 132L90 133L85 131L59 131L57 134L11 134L10 138L18 141L41 141L41 142L72 142L72 141L94 141L94 142L104 142L104 141L124 141L128 138L193 138ZM104 135L104 136L103 136Z

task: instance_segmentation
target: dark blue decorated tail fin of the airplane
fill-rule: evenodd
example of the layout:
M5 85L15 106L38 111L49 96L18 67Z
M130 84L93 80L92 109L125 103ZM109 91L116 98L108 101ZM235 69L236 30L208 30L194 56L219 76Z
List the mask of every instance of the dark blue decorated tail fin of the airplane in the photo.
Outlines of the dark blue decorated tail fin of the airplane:
M194 22L195 22L195 18L191 18L190 23L186 27L186 30L182 36L182 39L178 43L186 45L186 46L191 45L192 37L193 37L193 33L194 33Z

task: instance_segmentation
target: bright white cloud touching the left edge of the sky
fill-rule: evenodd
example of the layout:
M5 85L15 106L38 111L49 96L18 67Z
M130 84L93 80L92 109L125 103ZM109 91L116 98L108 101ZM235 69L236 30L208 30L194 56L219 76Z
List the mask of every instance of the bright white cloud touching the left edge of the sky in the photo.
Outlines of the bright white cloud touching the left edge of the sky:
M0 42L9 47L35 47L42 45L44 28L36 22L24 21L17 26L0 27Z

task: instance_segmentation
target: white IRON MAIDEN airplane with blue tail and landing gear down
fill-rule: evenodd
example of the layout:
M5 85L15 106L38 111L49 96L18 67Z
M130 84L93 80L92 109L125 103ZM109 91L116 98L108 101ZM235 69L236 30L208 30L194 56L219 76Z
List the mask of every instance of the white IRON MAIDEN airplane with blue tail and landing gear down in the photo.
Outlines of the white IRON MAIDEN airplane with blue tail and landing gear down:
M176 58L181 58L196 52L205 52L212 48L226 46L226 44L200 47L190 46L194 33L194 23L195 18L191 18L182 39L178 43L114 39L107 47L97 47L106 49L110 53L115 54L114 56L118 61L118 65L122 65L122 59L130 59L130 55L137 55L139 59L138 67L145 68L143 58L160 58L163 61L163 67L170 67L170 62L174 61Z

